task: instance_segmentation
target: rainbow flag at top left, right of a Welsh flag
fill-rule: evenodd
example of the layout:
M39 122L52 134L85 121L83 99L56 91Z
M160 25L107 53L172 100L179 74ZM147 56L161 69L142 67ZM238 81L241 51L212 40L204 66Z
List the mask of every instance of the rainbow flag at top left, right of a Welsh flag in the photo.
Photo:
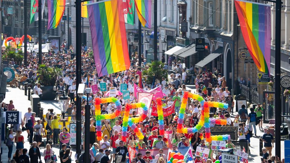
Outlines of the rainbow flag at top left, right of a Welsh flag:
M61 18L63 17L64 9L66 5L66 0L48 0L48 25L47 29L54 29L60 23Z

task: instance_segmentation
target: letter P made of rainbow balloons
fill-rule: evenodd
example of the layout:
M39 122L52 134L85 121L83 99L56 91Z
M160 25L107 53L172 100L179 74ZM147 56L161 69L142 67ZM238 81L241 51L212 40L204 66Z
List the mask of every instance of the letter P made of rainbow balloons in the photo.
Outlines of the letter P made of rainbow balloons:
M114 113L101 114L101 104L114 102L116 104L117 110ZM114 119L121 115L122 105L120 101L115 97L108 98L95 98L95 115L96 115L96 132L97 140L102 140L102 126L101 120Z

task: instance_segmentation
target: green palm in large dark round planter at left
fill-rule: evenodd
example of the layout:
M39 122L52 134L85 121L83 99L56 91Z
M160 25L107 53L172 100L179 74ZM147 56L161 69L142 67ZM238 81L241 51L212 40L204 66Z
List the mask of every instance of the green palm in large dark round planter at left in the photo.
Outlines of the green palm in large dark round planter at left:
M54 100L56 97L56 91L53 91L57 76L63 75L60 68L47 67L45 64L41 64L37 69L38 83L42 89L42 100Z

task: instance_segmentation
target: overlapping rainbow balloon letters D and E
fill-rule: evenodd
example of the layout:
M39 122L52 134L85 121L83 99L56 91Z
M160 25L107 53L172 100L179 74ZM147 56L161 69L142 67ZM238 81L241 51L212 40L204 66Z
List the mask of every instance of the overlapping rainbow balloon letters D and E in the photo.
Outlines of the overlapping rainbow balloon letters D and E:
M187 103L187 99L192 98L198 100L201 104L201 117L198 124L192 128L183 128L183 118L185 113L185 107ZM192 94L188 91L185 91L182 98L182 103L179 110L179 117L177 121L177 133L196 133L201 129L202 126L205 127L205 139L207 142L211 142L212 140L218 141L226 141L230 139L230 135L215 135L211 136L210 124L221 124L226 125L227 120L210 120L209 119L209 107L219 107L219 108L228 108L228 104L220 103L220 102L211 102L205 101L198 94Z

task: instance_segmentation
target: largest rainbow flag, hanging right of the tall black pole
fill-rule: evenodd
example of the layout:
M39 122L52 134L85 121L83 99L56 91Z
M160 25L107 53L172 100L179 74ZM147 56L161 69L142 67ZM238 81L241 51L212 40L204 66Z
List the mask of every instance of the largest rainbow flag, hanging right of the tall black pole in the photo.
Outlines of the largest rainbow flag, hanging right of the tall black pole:
M129 69L123 2L96 2L87 8L98 76Z

